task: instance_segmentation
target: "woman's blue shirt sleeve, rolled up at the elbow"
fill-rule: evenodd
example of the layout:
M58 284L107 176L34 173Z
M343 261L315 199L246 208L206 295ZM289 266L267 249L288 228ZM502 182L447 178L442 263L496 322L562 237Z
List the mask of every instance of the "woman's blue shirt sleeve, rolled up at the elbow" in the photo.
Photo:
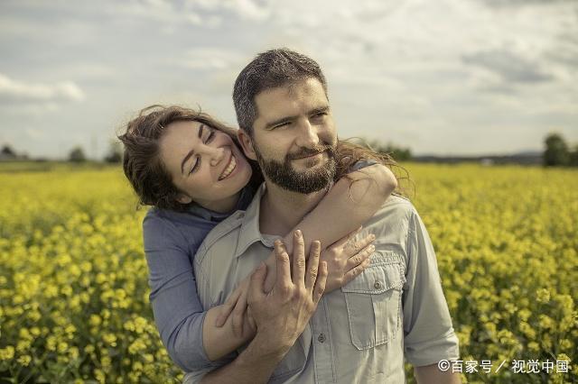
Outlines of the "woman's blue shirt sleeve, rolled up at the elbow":
M169 220L155 215L144 218L143 235L154 322L169 356L185 371L211 366L202 344L206 312L186 239Z

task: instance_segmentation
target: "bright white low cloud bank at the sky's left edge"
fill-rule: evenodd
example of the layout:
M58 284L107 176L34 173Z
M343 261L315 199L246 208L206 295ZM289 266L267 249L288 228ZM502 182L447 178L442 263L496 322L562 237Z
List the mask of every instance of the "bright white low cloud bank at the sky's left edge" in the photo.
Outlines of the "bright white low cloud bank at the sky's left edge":
M79 102L85 97L82 89L72 81L26 83L0 74L0 103Z

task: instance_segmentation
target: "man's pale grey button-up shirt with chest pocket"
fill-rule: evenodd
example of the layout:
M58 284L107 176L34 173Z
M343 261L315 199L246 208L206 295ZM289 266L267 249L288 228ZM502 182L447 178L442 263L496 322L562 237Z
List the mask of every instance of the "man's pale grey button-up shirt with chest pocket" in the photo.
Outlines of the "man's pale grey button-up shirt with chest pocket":
M201 244L194 270L205 309L222 304L271 252L276 236L258 226L264 193L265 185L245 213L228 217ZM405 359L424 366L459 358L433 245L414 206L390 197L358 238L368 233L376 235L371 264L322 297L270 382L399 383L406 379ZM185 382L208 371L191 372Z

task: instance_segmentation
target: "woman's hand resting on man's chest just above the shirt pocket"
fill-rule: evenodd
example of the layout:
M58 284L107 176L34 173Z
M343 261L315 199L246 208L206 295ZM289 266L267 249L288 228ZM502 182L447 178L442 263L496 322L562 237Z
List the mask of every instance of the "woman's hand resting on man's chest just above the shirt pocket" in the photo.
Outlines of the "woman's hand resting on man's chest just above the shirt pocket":
M371 262L369 256L375 251L372 242L376 240L376 236L371 233L365 239L355 241L355 235L360 230L361 228L353 231L322 251L321 261L327 262L329 271L325 293L343 287L355 279Z

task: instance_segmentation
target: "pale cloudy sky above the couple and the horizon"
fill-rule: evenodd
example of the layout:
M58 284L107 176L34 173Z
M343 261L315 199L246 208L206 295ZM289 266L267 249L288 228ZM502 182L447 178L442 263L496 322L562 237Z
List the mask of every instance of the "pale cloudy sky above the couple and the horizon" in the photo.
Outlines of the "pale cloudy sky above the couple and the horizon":
M575 0L2 0L0 144L102 157L151 104L234 125L239 70L281 46L322 65L341 138L439 155L578 142Z

